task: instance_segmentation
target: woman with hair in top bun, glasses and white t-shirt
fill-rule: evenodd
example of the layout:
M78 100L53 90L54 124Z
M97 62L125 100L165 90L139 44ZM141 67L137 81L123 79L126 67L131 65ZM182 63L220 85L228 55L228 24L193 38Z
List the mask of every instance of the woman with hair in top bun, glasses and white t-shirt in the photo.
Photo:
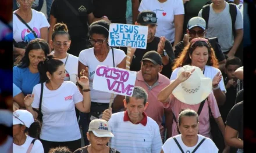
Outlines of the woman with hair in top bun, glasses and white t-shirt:
M78 57L67 53L70 44L71 40L67 30L67 25L64 23L55 24L54 31L52 33L52 40L50 41L51 48L54 49L51 54L64 63L66 69L65 81L72 81L73 83L76 83Z

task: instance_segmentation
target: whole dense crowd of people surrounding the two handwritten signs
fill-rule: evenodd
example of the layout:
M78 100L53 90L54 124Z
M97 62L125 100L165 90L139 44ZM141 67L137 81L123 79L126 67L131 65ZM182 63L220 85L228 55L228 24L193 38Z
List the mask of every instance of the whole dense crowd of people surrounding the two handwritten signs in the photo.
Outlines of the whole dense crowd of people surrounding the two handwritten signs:
M1 151L243 152L246 2L13 2ZM147 48L109 46L111 23L147 26ZM136 71L133 94L95 90L98 65Z

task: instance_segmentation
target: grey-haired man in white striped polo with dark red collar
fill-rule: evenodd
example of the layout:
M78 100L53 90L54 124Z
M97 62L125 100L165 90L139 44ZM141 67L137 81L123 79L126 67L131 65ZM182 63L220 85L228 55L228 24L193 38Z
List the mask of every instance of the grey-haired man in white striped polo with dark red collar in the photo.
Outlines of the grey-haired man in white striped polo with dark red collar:
M109 141L109 147L122 153L160 152L162 147L159 126L145 114L148 106L145 89L135 86L133 96L123 100L124 112L112 114L111 110L103 112L102 119L108 121L111 132L115 135Z

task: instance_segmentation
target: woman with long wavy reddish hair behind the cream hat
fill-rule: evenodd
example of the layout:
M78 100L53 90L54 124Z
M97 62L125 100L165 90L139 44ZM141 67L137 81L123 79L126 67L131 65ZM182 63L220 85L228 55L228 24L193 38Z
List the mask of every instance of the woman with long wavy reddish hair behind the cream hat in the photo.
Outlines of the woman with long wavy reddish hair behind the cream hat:
M177 72L184 65L193 65L201 68L207 78L212 79L212 90L218 105L223 105L226 100L226 89L221 71L218 69L218 60L208 39L194 38L190 41L172 67L170 81L177 78Z

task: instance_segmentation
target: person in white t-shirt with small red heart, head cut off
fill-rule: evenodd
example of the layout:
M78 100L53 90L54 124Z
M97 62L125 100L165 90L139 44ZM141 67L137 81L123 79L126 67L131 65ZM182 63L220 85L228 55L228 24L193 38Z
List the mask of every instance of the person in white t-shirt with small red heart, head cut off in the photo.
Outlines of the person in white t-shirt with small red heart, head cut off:
M164 36L172 43L173 48L182 41L184 21L182 0L142 0L138 11L143 10L152 10L157 14L158 26L155 36Z

